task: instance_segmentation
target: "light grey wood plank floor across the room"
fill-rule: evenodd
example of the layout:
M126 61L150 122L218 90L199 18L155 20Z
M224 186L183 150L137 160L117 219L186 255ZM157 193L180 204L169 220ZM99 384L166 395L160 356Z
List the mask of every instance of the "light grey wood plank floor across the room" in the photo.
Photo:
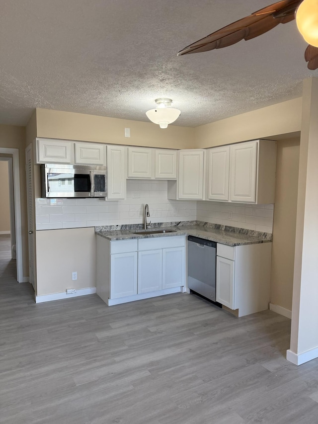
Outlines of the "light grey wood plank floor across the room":
M290 320L187 294L34 304L0 260L1 424L318 423L318 360L286 361Z

